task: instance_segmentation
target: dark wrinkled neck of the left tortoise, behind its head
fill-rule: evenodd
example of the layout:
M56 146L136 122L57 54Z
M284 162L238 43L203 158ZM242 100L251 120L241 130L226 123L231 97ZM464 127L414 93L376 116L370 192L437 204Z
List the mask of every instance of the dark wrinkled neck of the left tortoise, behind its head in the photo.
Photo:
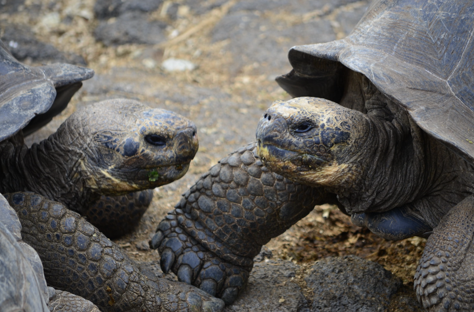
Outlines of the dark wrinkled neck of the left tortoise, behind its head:
M31 191L81 210L100 197L87 185L81 149L65 146L58 133L35 143L0 145L0 192Z

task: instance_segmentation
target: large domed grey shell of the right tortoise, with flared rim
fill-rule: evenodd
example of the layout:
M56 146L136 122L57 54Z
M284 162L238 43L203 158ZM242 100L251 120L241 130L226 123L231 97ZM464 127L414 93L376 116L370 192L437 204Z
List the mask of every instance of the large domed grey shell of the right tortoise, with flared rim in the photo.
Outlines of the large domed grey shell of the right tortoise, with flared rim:
M292 96L337 101L344 67L398 101L420 128L474 162L474 1L375 0L349 36L294 46Z

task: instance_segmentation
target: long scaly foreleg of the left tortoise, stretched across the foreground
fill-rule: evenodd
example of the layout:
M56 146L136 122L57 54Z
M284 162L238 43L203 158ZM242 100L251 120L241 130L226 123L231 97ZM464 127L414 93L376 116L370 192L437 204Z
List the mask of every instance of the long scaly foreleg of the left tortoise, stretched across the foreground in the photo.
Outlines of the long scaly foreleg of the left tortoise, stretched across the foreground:
M98 229L59 202L29 192L8 194L23 239L41 257L48 284L101 311L220 311L222 301L190 285L139 268Z

